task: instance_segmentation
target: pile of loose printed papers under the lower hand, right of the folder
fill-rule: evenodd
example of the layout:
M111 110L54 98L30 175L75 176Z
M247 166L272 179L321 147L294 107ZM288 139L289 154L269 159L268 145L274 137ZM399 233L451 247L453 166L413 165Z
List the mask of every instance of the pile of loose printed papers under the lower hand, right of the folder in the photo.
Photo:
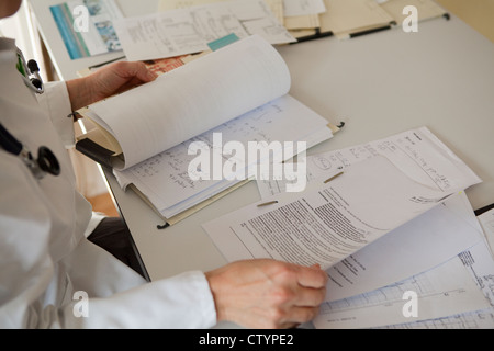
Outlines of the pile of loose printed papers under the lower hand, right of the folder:
M261 202L203 225L228 261L319 263L330 280L316 328L476 310L494 328L494 261L462 191L480 179L430 131L310 156L305 165L305 192L278 193L283 182L258 182ZM403 312L409 291L419 308L414 318Z

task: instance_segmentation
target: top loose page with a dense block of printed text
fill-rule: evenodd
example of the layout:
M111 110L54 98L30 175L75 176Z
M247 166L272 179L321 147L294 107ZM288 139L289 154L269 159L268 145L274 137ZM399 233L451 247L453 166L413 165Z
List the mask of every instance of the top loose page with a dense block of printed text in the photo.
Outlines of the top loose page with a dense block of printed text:
M328 183L279 194L269 206L248 205L203 228L228 261L273 258L329 269L457 192L422 185L377 156Z

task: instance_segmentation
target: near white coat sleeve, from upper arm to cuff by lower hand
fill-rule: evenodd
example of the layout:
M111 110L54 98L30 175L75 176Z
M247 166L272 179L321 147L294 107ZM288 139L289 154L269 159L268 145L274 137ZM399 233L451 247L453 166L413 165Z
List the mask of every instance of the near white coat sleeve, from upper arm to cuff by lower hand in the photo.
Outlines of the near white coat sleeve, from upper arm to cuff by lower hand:
M58 276L63 271L49 252L53 239L49 214L36 194L35 181L16 158L3 155L0 168L10 170L0 172L0 328L209 328L215 325L214 299L200 271L105 296L88 296L87 316L78 314L83 302L72 297L72 288L58 288L55 295L65 296L50 297L50 285L63 281L65 275ZM60 298L64 303L55 303Z

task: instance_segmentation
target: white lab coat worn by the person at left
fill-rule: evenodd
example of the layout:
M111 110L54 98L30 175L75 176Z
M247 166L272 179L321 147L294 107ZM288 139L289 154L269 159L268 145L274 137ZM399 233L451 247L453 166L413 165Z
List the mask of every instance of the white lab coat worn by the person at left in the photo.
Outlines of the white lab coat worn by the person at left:
M15 64L13 41L0 38L0 121L33 154L49 147L61 173L36 181L0 147L0 328L214 326L202 272L147 283L85 238L92 212L59 136L74 143L66 84L45 84L36 98Z

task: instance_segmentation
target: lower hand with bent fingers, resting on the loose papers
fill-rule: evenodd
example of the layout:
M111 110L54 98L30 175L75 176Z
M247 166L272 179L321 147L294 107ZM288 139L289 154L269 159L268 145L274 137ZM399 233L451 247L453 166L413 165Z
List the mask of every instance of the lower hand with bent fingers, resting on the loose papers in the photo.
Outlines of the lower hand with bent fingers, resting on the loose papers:
M247 328L292 328L312 320L326 295L327 274L317 265L260 259L206 272L217 320Z

